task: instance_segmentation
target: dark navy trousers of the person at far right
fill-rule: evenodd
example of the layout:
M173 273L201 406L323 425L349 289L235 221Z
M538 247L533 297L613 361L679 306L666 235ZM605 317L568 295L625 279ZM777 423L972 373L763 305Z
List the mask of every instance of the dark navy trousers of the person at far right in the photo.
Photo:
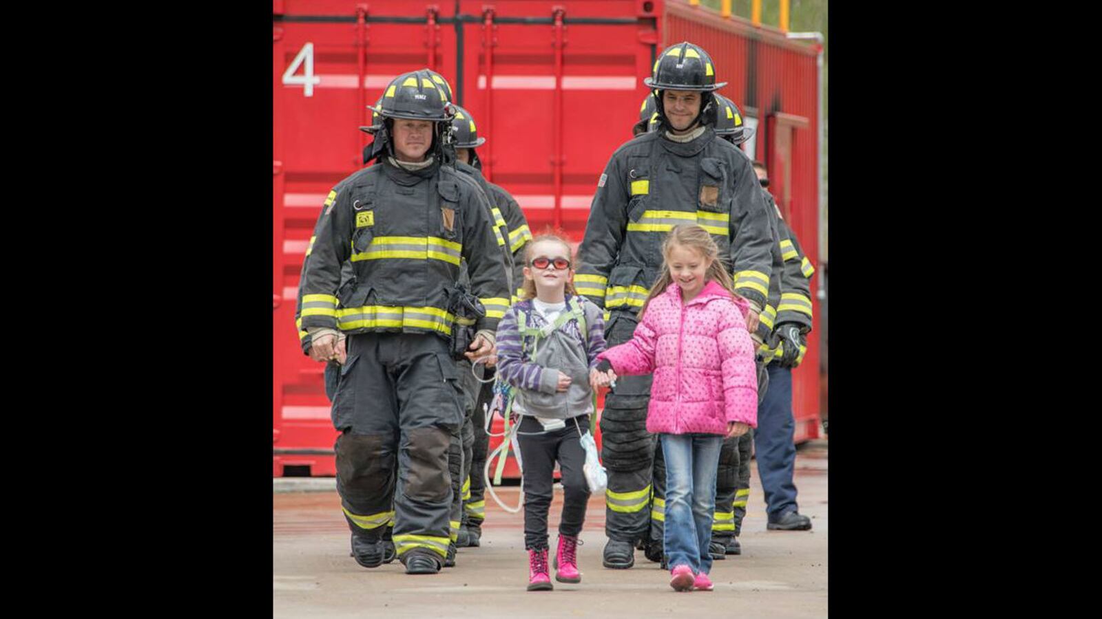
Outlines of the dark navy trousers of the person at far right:
M766 511L770 521L785 512L796 511L796 485L792 469L796 466L796 445L792 436L792 370L776 363L766 366L769 390L758 406L758 426L754 432L754 450L757 454L758 475L765 495Z

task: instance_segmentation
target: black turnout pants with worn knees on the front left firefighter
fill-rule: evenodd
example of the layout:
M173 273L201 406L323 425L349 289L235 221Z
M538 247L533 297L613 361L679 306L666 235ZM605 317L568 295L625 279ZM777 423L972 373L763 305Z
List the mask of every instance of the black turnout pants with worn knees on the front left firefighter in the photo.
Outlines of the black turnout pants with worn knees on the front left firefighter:
M401 557L443 561L452 504L447 452L463 408L447 343L432 334L352 335L333 403L337 492L348 526L381 535Z

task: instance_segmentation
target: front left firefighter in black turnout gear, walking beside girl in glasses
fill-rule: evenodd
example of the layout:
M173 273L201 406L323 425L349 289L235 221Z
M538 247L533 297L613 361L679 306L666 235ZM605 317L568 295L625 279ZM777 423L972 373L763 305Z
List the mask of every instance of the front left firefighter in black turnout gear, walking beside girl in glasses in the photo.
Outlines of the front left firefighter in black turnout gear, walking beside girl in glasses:
M314 354L332 357L337 329L348 335L333 421L353 554L381 564L392 519L409 574L437 573L447 555L447 452L463 422L454 360L493 354L497 318L478 298L508 294L477 186L443 161L452 110L428 72L387 86L375 110L385 155L334 188L301 283ZM342 286L345 261L355 278Z

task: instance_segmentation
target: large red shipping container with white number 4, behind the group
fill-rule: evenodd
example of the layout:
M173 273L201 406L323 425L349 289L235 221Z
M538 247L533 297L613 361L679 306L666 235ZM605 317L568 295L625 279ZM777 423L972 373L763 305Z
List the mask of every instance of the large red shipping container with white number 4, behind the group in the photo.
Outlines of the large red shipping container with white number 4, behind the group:
M356 127L370 123L365 106L402 72L441 73L487 139L479 149L487 178L517 198L533 232L560 227L580 241L597 177L631 137L642 78L658 52L685 39L712 54L730 83L721 93L747 117L765 118L752 148L817 261L815 51L779 32L672 1L273 2L276 476L289 466L335 474L323 368L299 347L294 301L322 203L361 166L369 137ZM800 442L818 436L814 340L793 379ZM511 458L506 476L518 476Z

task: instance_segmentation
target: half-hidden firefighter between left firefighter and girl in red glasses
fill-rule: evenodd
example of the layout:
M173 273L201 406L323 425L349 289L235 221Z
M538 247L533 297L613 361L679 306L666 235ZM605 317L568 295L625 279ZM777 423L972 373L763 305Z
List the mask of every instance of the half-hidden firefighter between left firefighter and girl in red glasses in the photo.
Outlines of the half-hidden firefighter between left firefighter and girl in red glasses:
M469 166L482 178L482 161L478 159L478 153L475 149L486 143L486 138L478 135L478 128L474 117L463 108L456 110L452 126L454 128L457 165L465 164ZM494 219L501 237L506 239L505 243L508 246L508 260L512 264L511 281L514 282L510 287L516 289L516 292L511 294L511 301L516 302L517 296L522 292L519 287L519 283L523 282L523 258L521 252L525 245L531 240L532 235L528 229L528 220L525 218L520 206L517 205L517 200L503 187L494 183L485 181L484 185L489 189L488 193L493 200ZM487 366L490 365L487 363ZM483 371L482 379L490 380L491 378L493 370L487 367ZM463 520L460 526L458 541L456 542L460 547L482 545L482 523L486 518L483 469L486 464L486 453L489 448L489 435L486 433L486 416L483 406L494 399L493 381L483 383L479 387L480 389L477 389L477 399L473 415L464 424L464 470L467 471L467 475L462 487L464 501ZM468 427L473 434L473 445L469 449L467 448L466 441Z

